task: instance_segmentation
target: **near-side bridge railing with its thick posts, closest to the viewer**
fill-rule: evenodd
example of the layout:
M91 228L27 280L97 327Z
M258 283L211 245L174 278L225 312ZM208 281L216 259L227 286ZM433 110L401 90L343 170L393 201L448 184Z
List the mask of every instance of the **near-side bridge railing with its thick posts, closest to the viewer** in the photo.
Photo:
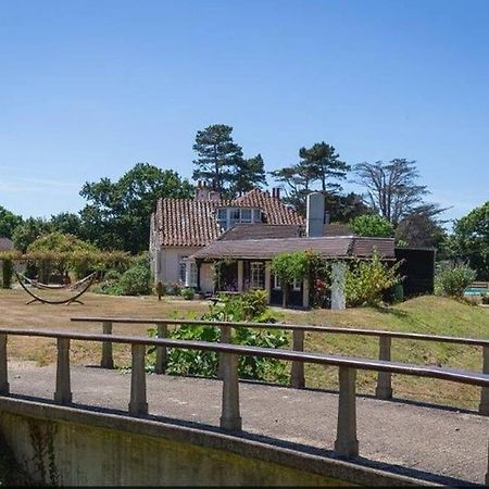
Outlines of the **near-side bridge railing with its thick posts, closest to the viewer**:
M356 439L356 394L355 379L358 369L389 372L403 375L429 377L443 380L489 387L489 375L442 368L427 365L410 365L399 362L389 362L371 359L356 359L341 355L328 355L315 352L298 352L291 350L243 347L239 344L211 343L206 341L187 341L171 339L154 339L148 337L95 335L88 333L73 333L59 330L0 328L0 394L9 394L8 381L8 336L28 336L53 338L58 341L57 388L54 401L59 404L72 403L71 373L70 373L70 342L72 340L99 341L110 343L126 343L131 346L131 381L130 401L128 411L130 415L148 414L147 386L146 386L146 348L166 347L191 350L205 350L222 353L223 362L223 396L221 427L225 430L240 430L241 416L239 403L238 358L239 355L253 355L274 358L301 363L315 363L339 367L339 398L338 424L335 441L335 452L338 455L352 457L359 454ZM486 475L489 481L489 474Z

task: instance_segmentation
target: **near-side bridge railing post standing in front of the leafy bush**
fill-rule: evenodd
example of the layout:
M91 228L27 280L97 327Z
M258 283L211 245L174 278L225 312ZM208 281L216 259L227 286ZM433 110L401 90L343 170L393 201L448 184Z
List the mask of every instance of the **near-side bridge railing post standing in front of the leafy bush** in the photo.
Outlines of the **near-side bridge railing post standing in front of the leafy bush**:
M223 365L223 410L221 427L230 431L241 429L239 413L238 355L224 353Z

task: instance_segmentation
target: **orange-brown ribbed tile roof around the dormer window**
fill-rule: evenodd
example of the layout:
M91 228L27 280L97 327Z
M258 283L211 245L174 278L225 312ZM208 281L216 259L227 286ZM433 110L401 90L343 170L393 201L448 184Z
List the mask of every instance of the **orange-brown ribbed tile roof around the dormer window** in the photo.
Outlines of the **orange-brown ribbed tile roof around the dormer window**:
M223 233L215 218L216 209L223 206L260 208L267 224L305 224L284 202L260 189L235 200L160 199L155 213L160 246L203 247L214 241Z

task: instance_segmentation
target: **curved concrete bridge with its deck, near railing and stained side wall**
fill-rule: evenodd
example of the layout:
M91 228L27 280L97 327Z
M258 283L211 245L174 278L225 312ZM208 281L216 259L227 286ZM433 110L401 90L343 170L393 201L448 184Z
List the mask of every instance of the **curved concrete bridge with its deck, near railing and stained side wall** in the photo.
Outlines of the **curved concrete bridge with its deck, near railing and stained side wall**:
M57 367L7 364L7 335L18 334L58 338ZM71 366L70 339L131 344L131 374ZM336 365L340 391L238 385L235 360L246 347L190 343L3 328L0 429L29 472L63 485L485 482L486 416L355 397L352 373L416 371L489 387L485 374L248 348ZM145 375L145 344L221 351L223 381Z

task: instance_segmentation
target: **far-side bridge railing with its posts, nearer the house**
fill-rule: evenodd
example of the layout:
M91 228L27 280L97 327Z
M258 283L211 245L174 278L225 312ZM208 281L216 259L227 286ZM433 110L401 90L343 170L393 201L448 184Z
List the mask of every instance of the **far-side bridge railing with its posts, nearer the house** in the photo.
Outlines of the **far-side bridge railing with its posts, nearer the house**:
M291 330L293 334L292 349L296 351L304 350L304 333L329 333L339 335L359 335L377 337L379 340L379 360L390 361L391 341L396 339L409 339L417 341L436 341L456 343L467 347L482 348L482 373L489 375L489 339L484 338L463 338L454 336L426 335L418 333L387 331L381 329L362 329L362 328L343 328L338 326L310 326L285 323L246 323L246 322L226 322L226 321L200 321L200 319L171 319L171 318L136 318L136 317L72 317L72 322L83 323L102 323L103 333L111 334L113 324L154 324L158 327L158 337L165 338L167 336L167 327L170 325L193 325L193 326L216 326L221 328L221 342L229 343L231 340L231 328L275 328ZM164 374L166 369L167 354L165 347L156 348L156 374ZM106 368L113 367L112 348L110 343L105 343L102 352L101 365ZM222 368L220 368L222 375ZM299 361L292 362L290 373L290 385L294 388L305 387L304 364ZM375 390L377 398L392 398L392 379L391 372L380 372L377 376L377 387ZM489 389L482 387L479 402L479 413L489 415Z

